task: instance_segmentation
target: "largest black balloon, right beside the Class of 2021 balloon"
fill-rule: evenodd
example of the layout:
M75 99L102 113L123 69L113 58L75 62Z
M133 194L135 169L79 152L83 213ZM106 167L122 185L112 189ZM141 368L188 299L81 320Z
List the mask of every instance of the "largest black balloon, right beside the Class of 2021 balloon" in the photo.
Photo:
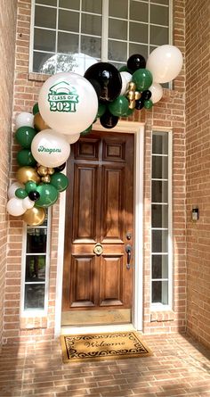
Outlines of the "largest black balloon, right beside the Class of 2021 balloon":
M85 79L97 81L101 87L101 103L112 102L120 94L122 79L117 68L108 62L94 63L85 71ZM93 86L94 87L94 86Z

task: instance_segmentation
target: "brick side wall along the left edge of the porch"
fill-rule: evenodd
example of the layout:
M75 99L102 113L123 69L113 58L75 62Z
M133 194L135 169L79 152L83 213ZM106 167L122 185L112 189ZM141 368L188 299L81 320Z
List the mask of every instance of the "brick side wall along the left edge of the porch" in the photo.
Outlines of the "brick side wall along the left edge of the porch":
M16 2L0 0L0 126L1 126L1 155L0 155L0 346L2 344L4 287L6 268L6 242L8 217L5 211L7 202L7 186L10 168L10 145L12 128L12 90L14 72L14 40L16 29Z

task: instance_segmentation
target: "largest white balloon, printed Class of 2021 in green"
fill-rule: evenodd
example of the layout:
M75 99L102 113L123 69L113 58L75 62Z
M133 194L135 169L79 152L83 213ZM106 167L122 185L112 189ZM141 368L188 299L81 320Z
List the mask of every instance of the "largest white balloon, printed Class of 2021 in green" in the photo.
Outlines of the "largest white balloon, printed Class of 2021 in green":
M44 121L61 134L84 131L95 120L98 97L92 84L77 73L58 73L44 82L38 98Z

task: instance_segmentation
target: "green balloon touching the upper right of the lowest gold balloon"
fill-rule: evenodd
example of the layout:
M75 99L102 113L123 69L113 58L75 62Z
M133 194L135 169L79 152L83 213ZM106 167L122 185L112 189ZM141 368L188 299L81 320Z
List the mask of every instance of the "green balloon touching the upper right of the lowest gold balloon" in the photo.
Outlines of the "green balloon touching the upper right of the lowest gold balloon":
M37 186L36 192L40 194L39 199L36 200L36 207L50 207L59 197L58 190L51 184Z

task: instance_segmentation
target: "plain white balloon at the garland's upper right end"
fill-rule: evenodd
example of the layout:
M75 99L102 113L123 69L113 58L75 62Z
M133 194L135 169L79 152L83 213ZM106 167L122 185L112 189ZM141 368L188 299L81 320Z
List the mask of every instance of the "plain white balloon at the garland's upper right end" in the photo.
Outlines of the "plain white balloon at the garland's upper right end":
M182 53L175 45L160 45L149 55L146 68L153 81L167 83L175 79L182 70Z

